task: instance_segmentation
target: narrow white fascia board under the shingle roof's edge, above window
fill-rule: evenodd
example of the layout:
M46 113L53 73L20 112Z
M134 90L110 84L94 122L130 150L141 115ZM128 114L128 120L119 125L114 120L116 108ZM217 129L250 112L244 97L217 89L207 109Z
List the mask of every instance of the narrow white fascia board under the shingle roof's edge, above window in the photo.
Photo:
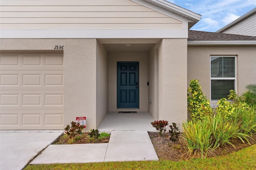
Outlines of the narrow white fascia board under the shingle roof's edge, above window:
M188 41L188 45L256 45L256 41Z

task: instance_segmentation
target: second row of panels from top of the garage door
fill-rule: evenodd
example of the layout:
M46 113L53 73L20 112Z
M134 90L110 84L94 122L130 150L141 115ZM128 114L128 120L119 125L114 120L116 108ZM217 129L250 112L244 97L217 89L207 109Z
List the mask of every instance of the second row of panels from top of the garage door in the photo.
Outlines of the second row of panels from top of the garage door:
M63 70L1 70L1 90L63 90Z

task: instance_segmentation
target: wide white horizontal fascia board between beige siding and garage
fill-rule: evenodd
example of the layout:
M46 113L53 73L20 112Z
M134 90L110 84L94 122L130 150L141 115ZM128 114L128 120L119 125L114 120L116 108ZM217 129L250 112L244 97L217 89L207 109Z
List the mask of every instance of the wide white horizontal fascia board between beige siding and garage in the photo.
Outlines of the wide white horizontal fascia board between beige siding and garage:
M188 29L2 29L0 38L188 38Z

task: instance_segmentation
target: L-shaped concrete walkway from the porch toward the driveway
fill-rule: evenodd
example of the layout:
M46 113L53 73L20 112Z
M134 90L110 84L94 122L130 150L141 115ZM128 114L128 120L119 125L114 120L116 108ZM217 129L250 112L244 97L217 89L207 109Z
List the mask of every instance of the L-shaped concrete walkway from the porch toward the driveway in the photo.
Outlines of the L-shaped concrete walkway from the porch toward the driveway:
M30 164L158 160L147 131L112 131L109 143L50 145Z

